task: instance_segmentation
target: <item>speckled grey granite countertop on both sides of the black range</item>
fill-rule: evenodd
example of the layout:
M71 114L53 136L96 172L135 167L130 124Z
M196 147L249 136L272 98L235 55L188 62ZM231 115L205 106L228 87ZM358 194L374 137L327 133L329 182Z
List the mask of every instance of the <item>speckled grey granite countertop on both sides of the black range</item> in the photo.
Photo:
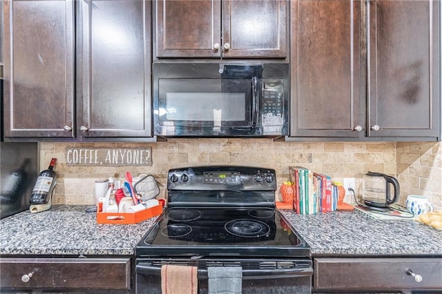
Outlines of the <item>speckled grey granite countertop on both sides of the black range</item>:
M97 224L89 206L56 205L1 219L0 255L133 255L156 217ZM378 220L358 211L296 215L281 210L312 255L439 255L442 231L414 220Z

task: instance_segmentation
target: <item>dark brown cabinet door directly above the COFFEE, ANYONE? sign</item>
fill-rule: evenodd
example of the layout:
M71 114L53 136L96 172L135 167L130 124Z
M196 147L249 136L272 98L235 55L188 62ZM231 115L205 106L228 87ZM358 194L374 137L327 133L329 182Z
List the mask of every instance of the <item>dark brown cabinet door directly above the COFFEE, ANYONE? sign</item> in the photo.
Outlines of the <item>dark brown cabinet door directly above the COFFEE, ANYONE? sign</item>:
M151 137L151 2L79 6L78 134Z

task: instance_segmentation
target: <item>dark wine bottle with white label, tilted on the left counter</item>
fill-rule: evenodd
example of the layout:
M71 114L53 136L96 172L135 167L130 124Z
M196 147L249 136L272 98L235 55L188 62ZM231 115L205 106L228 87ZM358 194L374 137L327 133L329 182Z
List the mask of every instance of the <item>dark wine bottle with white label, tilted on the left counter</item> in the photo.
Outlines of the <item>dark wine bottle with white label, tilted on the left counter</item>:
M48 204L52 195L52 190L55 187L57 173L55 173L54 166L57 158L52 158L48 169L42 170L35 182L34 189L30 195L30 204Z

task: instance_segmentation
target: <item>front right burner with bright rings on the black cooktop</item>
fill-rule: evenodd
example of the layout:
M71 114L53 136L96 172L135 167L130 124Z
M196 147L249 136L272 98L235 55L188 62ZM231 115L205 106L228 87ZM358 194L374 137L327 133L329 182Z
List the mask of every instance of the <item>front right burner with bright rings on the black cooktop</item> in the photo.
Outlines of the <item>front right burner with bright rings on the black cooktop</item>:
M256 219L233 219L224 228L238 237L262 237L270 232L270 227Z

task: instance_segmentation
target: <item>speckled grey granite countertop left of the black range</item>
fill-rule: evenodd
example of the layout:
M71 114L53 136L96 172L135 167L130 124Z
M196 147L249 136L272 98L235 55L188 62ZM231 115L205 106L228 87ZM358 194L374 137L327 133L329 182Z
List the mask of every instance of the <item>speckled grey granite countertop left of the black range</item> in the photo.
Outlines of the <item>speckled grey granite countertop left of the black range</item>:
M55 205L1 219L0 255L133 255L156 217L138 224L97 224L84 205Z

